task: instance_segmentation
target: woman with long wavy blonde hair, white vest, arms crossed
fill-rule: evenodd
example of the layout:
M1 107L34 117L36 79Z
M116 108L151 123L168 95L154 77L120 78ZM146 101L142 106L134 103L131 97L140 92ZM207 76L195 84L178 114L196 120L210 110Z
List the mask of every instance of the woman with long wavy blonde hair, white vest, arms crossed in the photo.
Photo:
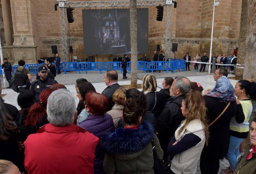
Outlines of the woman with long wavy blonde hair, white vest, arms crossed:
M203 95L199 91L184 95L182 114L186 119L175 131L167 153L174 155L171 170L176 174L195 174L204 144L208 144L208 119Z

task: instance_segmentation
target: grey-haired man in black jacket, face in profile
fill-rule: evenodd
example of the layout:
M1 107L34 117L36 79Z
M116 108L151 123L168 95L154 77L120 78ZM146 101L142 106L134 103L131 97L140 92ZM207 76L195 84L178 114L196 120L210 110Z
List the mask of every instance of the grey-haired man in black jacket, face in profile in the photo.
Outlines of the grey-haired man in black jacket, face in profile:
M190 81L186 77L175 77L170 87L170 97L165 103L164 110L156 119L156 132L162 149L164 158L167 157L167 146L181 121L185 119L181 112L181 103L185 94L191 88Z

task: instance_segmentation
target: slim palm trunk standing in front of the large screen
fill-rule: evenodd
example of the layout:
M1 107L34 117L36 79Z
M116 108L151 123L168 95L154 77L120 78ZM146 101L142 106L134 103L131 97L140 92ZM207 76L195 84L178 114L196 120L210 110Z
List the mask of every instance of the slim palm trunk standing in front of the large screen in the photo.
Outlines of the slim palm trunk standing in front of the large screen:
M130 0L131 21L131 87L137 86L137 0Z

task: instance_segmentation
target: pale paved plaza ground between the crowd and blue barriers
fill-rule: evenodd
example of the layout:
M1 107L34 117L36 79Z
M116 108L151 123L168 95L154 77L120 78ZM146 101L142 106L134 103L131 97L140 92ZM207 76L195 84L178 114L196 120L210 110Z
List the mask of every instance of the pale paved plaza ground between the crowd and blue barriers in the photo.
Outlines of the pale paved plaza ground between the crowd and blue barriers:
M103 71L101 74L100 72L97 71L93 71L93 72L87 72L87 74L85 74L84 72L81 72L80 74L78 74L77 72L67 72L66 74L61 73L60 75L57 75L55 80L58 83L64 84L67 89L74 95L75 99L76 99L76 103L78 103L78 98L76 97L76 89L75 89L75 81L78 78L85 78L87 79L89 82L92 83L92 85L95 87L96 91L98 93L101 93L105 88L105 82L104 82L104 74L105 71ZM151 73L146 73L146 74L151 74ZM138 72L138 84L141 84L141 79L144 76L144 72ZM208 74L208 73L200 73L200 72L193 72L193 71L187 71L187 72L176 72L176 73L172 73L169 72L168 74L166 72L154 72L153 75L156 77L157 80L157 91L159 91L162 87L162 81L164 79L164 77L176 77L176 76L185 76L188 77L188 79L190 79L190 81L195 81L195 82L199 82L201 83L202 87L205 89L212 89L215 85L215 81L213 79L213 74ZM130 84L130 79L131 79L131 75L127 73L127 77L128 79L122 79L123 75L121 74L120 71L118 71L118 79L119 79L119 84L120 85L129 85ZM229 74L228 77L234 77L234 75ZM32 75L32 79L36 79L36 76L33 74ZM3 83L3 78L1 77L2 83ZM233 86L235 86L237 80L233 80L230 79L230 82ZM3 87L3 84L2 84ZM17 96L19 95L19 93L14 92L12 89L4 89L2 90L2 94L6 94L3 99L4 102L12 104L14 106L16 106L18 109L20 109L20 107L17 104ZM224 169L226 167L228 167L228 160L224 159L224 160L220 160L220 169ZM199 168L199 163L198 163L198 167L197 167L198 171L196 174L201 174L200 172L200 168ZM220 173L220 172L219 172Z

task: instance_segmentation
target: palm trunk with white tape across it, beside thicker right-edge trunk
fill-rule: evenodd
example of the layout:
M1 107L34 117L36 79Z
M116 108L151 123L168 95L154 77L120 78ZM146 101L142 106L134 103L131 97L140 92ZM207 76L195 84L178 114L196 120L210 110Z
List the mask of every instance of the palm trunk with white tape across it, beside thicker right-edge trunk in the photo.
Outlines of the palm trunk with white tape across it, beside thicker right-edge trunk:
M242 0L240 32L238 39L238 53L236 64L236 79L243 79L244 73L244 59L246 56L246 34L247 34L247 21L248 21L248 0Z

